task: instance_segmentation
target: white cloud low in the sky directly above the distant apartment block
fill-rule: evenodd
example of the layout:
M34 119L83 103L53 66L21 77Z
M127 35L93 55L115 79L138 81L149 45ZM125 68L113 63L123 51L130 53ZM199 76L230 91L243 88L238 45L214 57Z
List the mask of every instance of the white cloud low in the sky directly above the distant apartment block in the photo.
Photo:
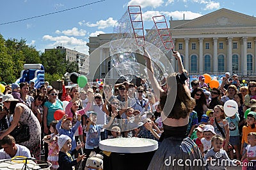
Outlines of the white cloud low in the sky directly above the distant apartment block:
M89 47L86 45L86 42L81 39L77 39L74 37L68 36L51 36L51 35L44 35L44 41L49 41L53 43L49 43L45 45L46 48L52 49L57 47L58 45L62 45L67 49L76 49L78 52L82 52L84 54L88 54Z

